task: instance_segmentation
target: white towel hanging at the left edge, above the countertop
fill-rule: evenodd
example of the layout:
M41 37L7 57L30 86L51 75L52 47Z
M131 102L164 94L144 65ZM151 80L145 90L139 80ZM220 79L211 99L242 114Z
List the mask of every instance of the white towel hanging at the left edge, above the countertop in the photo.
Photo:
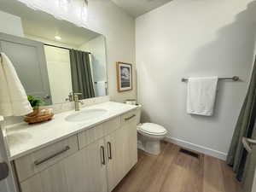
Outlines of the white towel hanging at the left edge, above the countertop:
M8 56L0 53L0 115L21 116L32 112L26 91Z

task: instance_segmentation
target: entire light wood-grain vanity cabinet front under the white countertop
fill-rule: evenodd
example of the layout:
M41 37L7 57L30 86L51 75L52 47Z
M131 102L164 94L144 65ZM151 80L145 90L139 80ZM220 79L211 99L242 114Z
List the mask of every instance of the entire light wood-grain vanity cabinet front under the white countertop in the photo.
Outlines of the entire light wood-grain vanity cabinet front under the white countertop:
M15 160L21 192L110 192L137 163L137 110Z

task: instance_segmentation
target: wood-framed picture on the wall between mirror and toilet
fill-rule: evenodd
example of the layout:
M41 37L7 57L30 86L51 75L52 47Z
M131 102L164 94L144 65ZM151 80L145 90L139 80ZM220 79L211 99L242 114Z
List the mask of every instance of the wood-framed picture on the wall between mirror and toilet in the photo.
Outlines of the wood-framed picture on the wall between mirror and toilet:
M118 91L132 90L132 65L130 63L116 63Z

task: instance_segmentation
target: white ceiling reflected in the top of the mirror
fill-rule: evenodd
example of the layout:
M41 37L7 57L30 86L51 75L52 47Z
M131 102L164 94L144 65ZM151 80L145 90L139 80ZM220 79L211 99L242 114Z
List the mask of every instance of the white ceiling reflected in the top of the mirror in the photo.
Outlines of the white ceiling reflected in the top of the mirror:
M56 20L52 15L29 9L16 0L0 0L0 10L21 18L24 33L51 41L61 36L58 42L79 46L96 38L98 33L75 26L66 20Z

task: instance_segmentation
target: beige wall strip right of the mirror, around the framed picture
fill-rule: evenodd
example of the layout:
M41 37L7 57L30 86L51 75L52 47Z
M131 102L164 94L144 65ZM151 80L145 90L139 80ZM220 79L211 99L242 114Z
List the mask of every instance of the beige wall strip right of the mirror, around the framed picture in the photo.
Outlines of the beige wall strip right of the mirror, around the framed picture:
M110 0L89 1L89 28L102 33L107 41L108 93L110 99L124 102L137 98L135 70L135 20ZM133 90L117 91L116 61L132 63Z

